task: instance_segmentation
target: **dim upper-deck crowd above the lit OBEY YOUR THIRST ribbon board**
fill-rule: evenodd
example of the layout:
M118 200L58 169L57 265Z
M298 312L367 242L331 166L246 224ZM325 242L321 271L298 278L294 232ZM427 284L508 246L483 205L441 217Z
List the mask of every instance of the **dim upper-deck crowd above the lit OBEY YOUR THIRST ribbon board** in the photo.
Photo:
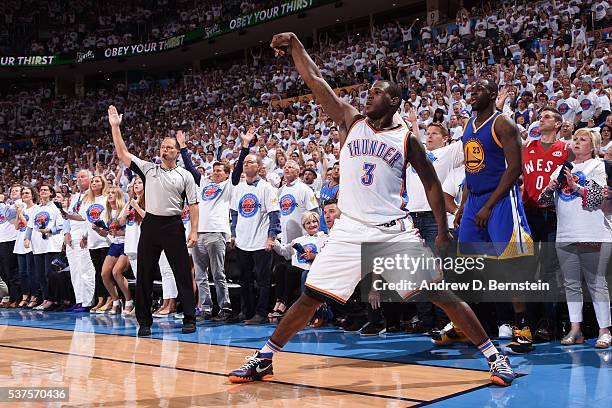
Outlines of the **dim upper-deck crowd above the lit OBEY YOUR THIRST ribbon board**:
M50 55L160 40L221 24L267 7L269 0L40 1L0 4L0 49Z

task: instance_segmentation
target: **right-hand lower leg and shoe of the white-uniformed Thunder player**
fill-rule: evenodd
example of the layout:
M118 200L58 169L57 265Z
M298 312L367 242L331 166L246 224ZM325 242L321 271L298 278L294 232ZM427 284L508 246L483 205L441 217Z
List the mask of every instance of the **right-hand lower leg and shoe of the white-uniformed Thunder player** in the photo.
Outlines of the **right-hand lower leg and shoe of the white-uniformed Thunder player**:
M508 358L493 345L468 304L450 291L428 292L428 297L433 304L444 310L453 324L461 328L473 344L478 346L489 363L491 381L502 386L510 385L515 375Z

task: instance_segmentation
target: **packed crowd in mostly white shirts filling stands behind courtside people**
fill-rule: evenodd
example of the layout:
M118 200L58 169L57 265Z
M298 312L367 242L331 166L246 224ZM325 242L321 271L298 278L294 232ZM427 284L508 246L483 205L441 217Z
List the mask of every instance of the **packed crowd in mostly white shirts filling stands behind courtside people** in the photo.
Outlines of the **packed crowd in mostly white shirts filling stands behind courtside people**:
M545 108L554 108L563 117L560 138L569 141L576 129L599 128L595 154L610 158L609 10L604 1L501 2L461 9L446 26L400 18L342 37L322 34L309 52L333 87L347 87L340 96L359 111L370 83L399 83L404 100L399 113L424 143L432 123L448 130L449 143L461 138L472 115L473 86L487 78L499 85L498 107L515 119L525 143L539 138L538 119ZM214 9L205 11L218 17ZM180 21L178 15L173 21ZM208 21L206 13L189 14L194 16ZM83 39L75 34L75 41ZM0 183L7 199L14 183L43 182L67 198L76 192L77 170L86 168L126 189L129 172L114 157L107 130L106 109L112 104L123 113L123 134L135 155L158 161L163 137L183 130L189 157L202 175L212 173L217 161L231 168L241 135L255 126L252 149L263 162L260 176L279 188L287 161L294 159L299 177L322 202L322 189L337 183L339 135L316 101L297 98L307 93L287 57L263 49L253 50L248 64L183 73L163 83L92 88L83 99L55 95L50 86L9 93L0 101L0 142L12 147L2 153ZM15 140L29 147L19 149Z

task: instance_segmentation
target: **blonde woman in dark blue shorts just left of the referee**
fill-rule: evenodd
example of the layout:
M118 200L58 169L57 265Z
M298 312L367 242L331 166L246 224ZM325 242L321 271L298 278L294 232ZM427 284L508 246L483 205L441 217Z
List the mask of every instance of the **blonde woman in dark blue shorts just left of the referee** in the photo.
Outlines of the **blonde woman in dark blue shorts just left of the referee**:
M123 276L123 272L129 264L129 260L124 253L125 217L123 217L123 213L126 211L126 204L123 192L119 187L109 187L106 196L106 217L104 221L107 228L101 228L98 233L110 241L110 247L102 265L102 282L110 294L110 298L96 313L121 314L121 300L115 282L117 282L124 295L125 289L129 294L127 281ZM122 286L121 283L124 285Z

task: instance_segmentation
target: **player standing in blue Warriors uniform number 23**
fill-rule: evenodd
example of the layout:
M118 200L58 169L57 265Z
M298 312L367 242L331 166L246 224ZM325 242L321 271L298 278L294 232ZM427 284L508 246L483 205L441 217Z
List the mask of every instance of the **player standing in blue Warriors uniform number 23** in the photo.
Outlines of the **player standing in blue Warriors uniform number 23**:
M488 262L486 270L490 271L488 278L503 281L533 270L527 267L532 258L520 266L512 261L533 255L533 240L517 183L522 174L521 138L512 119L495 109L497 95L497 84L486 79L478 81L472 93L471 105L477 114L466 123L462 138L465 185L455 226L459 227L459 252L500 261ZM520 328L513 331L513 341L507 346L515 353L533 350L521 296L513 301ZM501 306L496 304L498 323Z

